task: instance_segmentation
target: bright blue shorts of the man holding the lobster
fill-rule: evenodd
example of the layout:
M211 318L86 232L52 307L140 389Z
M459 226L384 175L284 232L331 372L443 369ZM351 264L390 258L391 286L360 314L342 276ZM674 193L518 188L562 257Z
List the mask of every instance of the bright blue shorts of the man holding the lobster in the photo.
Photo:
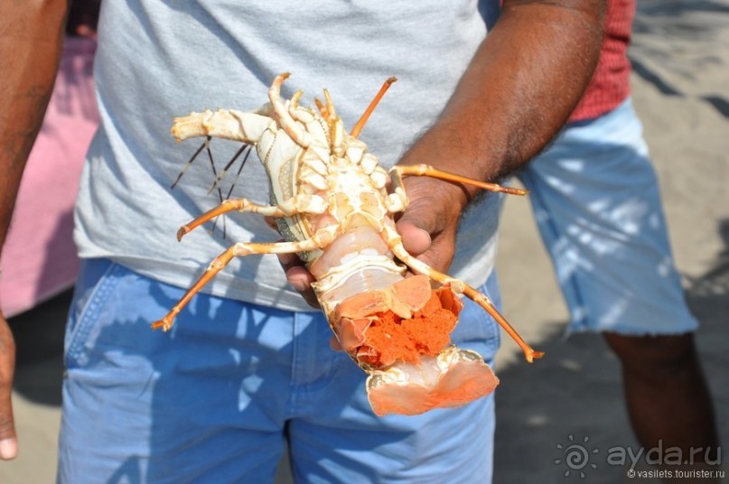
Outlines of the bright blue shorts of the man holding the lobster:
M499 302L495 278L488 287ZM303 482L490 482L493 394L406 417L372 414L365 373L319 312L196 296L86 260L66 335L61 483L271 482L287 441ZM491 361L496 322L466 302L453 340Z

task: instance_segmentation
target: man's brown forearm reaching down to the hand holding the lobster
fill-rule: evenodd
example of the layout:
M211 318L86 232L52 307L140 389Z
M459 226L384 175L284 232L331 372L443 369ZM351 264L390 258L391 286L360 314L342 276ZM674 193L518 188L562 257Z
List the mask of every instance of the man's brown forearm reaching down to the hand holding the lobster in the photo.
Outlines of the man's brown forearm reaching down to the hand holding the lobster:
M484 181L526 163L564 125L591 79L603 9L602 0L506 0L443 115L403 162Z

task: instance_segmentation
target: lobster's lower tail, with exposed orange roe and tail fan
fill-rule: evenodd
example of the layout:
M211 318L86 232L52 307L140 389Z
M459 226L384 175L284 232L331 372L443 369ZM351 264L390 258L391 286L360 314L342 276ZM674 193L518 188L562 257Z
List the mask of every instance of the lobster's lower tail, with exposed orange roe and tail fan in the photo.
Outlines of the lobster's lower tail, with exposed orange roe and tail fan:
M451 344L463 303L425 275L342 301L330 323L339 346L369 373L375 414L422 414L464 405L499 384L475 351Z

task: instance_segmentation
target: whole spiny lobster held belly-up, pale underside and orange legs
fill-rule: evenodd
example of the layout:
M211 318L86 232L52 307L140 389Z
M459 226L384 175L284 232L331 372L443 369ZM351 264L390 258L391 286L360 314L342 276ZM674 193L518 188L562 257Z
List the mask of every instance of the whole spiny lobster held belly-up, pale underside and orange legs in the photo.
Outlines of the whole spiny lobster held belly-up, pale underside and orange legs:
M425 164L396 165L389 172L379 166L358 135L395 78L385 82L347 133L326 89L325 102L316 99L317 108L299 104L301 90L282 100L280 90L288 76L276 77L268 90L269 102L255 111L206 110L173 120L172 134L178 141L212 136L255 146L270 181L271 200L270 206L224 200L182 226L178 239L210 219L238 210L275 218L285 241L238 242L229 247L152 327L169 330L192 296L233 257L296 253L317 280L313 289L336 337L334 345L369 373L367 393L375 414L420 414L464 405L498 385L481 355L451 344L450 333L463 307L457 294L489 312L529 362L541 358L543 353L531 349L484 294L408 254L393 219L407 208L403 177L408 175L469 183L489 191L526 191ZM416 275L406 277L407 268ZM432 289L431 281L439 287Z

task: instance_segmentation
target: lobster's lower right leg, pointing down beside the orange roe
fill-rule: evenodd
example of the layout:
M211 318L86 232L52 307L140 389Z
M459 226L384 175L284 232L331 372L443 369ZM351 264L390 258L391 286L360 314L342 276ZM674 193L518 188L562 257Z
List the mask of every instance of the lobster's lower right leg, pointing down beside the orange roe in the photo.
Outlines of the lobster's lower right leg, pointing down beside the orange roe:
M544 352L535 351L523 338L521 338L517 330L509 324L509 321L506 321L506 318L501 315L499 310L496 309L496 307L491 303L491 300L486 297L485 294L479 293L475 288L464 283L462 280L438 272L430 265L425 264L425 262L411 256L405 247L403 247L402 238L399 234L397 234L395 228L386 225L384 226L384 231L386 240L388 241L388 247L390 247L390 250L392 250L393 254L395 254L398 259L413 269L413 271L417 274L427 275L440 284L450 284L454 293L462 293L481 306L481 308L491 314L491 317L500 324L501 328L506 330L506 332L509 333L509 336L517 342L519 348L524 351L524 357L527 358L529 363L533 362L534 358L542 358L544 356Z

